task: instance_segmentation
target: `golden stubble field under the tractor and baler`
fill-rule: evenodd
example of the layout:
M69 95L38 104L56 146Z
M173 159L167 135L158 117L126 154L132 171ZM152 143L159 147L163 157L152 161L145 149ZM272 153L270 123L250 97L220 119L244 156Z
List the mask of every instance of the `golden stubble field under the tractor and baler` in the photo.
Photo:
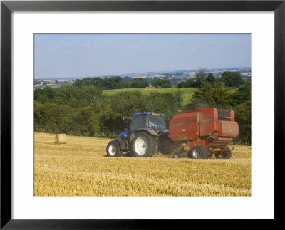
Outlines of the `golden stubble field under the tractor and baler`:
M105 157L109 139L34 135L35 196L250 196L251 147L232 158Z

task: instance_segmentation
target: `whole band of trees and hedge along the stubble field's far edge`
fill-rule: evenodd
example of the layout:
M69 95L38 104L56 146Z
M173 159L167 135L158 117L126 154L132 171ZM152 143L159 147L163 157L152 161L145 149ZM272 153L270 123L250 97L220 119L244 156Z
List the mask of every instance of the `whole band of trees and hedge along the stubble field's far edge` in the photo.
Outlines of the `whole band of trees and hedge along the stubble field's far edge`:
M224 76L224 79L227 78ZM139 83L140 80L134 82ZM214 107L234 110L239 123L239 137L235 141L250 145L251 84L243 82L234 89L225 88L224 85L202 81L192 99L185 105L182 104L181 92L144 94L140 91L127 91L103 95L102 89L93 85L35 89L34 130L90 137L115 137L125 128L123 117L133 113L165 113L168 124L181 110ZM157 88L160 87L161 85L157 85Z

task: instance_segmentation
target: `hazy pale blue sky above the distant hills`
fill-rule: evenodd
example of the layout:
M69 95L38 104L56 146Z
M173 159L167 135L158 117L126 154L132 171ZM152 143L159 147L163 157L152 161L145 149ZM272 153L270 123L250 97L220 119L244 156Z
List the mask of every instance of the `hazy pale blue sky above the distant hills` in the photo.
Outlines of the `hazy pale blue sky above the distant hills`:
M250 34L35 34L34 78L251 67Z

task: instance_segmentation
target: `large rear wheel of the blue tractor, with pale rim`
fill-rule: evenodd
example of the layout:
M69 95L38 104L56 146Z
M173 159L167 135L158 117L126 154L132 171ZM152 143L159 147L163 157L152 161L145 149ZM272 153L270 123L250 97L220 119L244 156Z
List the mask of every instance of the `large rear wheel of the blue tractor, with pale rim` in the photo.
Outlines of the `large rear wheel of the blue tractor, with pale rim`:
M132 142L132 154L134 157L151 157L156 147L155 137L146 132L138 132Z

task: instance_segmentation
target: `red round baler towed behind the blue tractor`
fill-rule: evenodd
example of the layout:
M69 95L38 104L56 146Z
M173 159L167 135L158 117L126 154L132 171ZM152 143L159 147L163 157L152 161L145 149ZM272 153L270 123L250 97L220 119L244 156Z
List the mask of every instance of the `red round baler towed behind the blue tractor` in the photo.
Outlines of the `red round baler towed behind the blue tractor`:
M169 137L174 142L186 142L192 158L230 158L229 143L239 135L233 110L206 108L177 113L169 125Z

